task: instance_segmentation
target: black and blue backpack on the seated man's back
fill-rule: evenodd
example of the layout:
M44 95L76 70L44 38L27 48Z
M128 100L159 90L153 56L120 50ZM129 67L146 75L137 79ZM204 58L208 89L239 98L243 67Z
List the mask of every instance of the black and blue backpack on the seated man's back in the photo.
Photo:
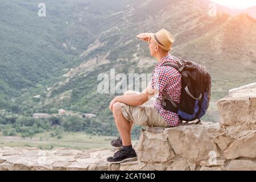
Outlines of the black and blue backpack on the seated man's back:
M180 103L176 103L165 92L163 93L163 101L156 100L164 109L170 110L179 115L181 121L195 121L200 123L209 107L211 95L211 78L205 67L193 61L174 59L177 64L164 63L163 66L170 66L177 69L181 73L181 99Z

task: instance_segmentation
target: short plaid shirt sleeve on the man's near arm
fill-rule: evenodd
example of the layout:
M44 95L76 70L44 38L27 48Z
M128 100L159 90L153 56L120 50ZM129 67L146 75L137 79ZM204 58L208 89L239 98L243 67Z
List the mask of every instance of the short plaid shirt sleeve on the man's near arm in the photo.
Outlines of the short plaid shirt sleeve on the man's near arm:
M156 69L150 80L151 88L156 89L159 92L163 92L168 85L168 82L168 71L164 67Z

